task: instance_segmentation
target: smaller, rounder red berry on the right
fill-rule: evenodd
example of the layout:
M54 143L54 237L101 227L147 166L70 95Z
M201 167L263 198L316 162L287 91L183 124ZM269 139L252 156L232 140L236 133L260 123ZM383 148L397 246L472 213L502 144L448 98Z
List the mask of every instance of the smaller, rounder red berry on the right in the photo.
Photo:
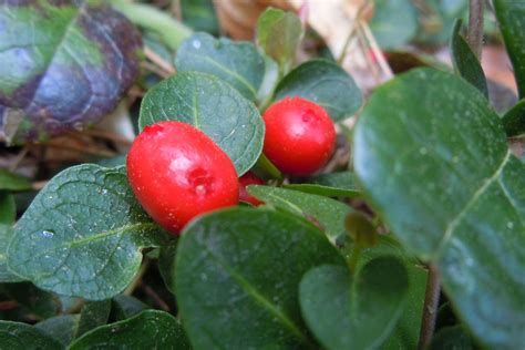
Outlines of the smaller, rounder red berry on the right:
M312 174L332 155L336 127L320 105L301 97L286 97L270 105L262 119L264 153L284 173Z

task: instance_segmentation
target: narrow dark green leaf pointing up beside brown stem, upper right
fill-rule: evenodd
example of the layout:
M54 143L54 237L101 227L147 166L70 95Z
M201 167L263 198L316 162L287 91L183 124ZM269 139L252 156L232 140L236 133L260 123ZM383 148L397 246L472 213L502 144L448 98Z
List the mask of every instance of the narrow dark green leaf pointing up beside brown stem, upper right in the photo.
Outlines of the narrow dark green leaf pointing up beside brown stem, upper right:
M472 51L469 42L461 34L463 22L457 20L452 31L451 55L454 70L463 79L476 86L485 97L488 99L488 87L486 85L485 73L481 66L480 60Z

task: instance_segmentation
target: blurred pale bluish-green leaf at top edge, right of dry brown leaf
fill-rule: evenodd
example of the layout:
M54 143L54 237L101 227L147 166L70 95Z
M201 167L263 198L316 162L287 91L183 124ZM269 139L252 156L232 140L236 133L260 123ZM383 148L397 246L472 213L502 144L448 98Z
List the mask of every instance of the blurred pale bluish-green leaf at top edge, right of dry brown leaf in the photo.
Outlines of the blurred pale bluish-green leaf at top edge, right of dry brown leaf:
M370 29L381 49L406 44L418 31L418 16L410 0L375 0Z

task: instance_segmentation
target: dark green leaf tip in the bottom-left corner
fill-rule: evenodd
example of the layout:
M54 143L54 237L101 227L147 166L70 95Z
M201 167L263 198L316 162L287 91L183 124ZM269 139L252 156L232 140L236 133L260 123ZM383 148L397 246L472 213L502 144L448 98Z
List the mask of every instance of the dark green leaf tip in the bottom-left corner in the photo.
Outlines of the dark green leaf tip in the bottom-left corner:
M44 331L25 323L0 321L2 349L62 350L64 347Z

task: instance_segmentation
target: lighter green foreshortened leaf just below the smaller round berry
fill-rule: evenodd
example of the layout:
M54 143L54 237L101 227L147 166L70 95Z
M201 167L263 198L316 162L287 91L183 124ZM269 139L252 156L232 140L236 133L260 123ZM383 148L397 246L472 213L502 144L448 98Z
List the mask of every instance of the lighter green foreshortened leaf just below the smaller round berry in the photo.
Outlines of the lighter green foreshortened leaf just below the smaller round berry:
M344 203L299 191L254 185L248 186L247 191L266 204L315 218L331 241L336 241L336 238L344 233L344 217L352 212Z

